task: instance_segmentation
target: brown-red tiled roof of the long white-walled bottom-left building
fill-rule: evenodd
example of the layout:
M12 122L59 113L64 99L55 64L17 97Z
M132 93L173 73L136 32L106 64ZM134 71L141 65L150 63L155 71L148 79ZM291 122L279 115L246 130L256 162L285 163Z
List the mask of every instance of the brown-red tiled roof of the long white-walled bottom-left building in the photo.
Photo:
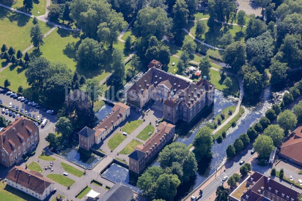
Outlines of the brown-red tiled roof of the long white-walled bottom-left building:
M6 179L40 194L43 194L44 190L53 183L52 181L43 178L40 173L36 171L27 171L20 166L14 166L14 168L6 175Z

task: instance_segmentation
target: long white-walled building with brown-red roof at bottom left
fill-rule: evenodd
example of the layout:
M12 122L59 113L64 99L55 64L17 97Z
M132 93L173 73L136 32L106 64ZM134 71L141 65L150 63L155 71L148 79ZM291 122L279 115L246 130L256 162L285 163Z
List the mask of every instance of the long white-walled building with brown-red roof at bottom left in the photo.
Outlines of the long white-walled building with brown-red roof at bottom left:
M39 200L47 198L54 189L54 183L37 171L28 171L14 166L6 176L7 185L18 189Z

